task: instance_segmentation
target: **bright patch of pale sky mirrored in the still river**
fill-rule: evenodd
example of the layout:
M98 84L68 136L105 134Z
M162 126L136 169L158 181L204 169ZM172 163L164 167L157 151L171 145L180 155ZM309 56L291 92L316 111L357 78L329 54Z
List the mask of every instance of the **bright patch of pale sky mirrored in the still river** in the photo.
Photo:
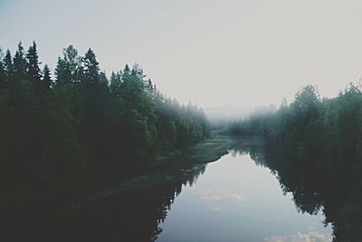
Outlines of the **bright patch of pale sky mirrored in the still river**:
M229 154L183 189L158 241L330 241L323 219L298 213L270 169Z

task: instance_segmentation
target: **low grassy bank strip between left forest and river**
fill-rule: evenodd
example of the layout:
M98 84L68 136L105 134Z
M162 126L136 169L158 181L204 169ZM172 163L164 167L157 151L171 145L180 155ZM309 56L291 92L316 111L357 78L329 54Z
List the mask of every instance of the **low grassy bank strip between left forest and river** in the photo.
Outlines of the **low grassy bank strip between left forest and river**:
M148 169L143 174L129 179L113 180L66 210L80 208L84 204L122 193L152 189L167 182L184 179L204 167L205 164L219 160L238 142L238 139L229 136L214 136L192 147L169 153L167 156L154 160L153 163L156 166L153 169Z

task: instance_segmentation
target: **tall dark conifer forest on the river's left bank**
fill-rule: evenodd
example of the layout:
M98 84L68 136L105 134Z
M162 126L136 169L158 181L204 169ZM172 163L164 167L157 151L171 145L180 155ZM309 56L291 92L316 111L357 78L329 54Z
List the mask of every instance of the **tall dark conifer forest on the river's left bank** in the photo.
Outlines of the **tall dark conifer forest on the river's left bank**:
M17 204L94 178L129 175L151 160L207 138L204 111L166 98L142 69L126 65L110 78L95 53L69 45L55 77L33 43L0 59L2 202Z

